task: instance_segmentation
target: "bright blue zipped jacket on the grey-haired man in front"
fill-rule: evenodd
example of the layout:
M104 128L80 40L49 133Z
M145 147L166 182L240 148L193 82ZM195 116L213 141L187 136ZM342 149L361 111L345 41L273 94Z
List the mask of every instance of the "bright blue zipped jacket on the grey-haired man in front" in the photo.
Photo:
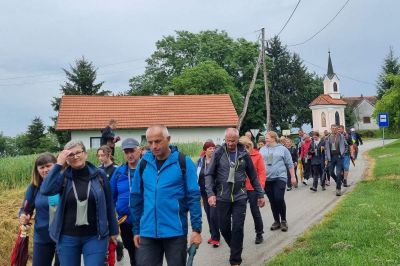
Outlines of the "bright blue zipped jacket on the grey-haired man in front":
M187 235L188 210L192 228L201 230L196 167L186 156L186 175L182 176L178 149L173 146L170 149L171 154L159 171L156 158L148 152L142 158L147 161L143 176L140 171L135 172L130 198L134 235L151 238Z

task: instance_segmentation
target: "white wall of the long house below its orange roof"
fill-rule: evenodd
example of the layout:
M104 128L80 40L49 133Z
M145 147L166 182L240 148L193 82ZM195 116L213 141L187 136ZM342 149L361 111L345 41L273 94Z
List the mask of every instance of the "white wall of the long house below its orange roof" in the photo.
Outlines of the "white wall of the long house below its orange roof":
M187 143L187 142L204 142L207 139L212 139L215 143L221 143L224 139L226 127L212 127L212 128L169 128L171 135L171 142L174 143ZM135 138L139 142L145 141L146 129L116 129L114 131L116 136L121 137L121 141L117 142L116 146L120 146L122 140L125 138ZM101 137L100 130L81 130L72 131L71 139L81 140L86 148L91 148L91 138L94 144L99 142ZM93 148L97 148L94 145Z

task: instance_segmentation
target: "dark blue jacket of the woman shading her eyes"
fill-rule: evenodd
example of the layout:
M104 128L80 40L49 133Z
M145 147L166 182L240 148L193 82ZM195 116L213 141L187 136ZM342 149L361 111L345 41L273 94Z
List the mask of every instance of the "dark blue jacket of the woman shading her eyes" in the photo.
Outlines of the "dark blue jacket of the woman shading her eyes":
M115 208L112 201L110 182L103 170L86 162L91 179L90 191L96 200L97 234L99 238L118 234L118 224L115 218ZM57 242L60 239L64 220L65 198L72 190L72 168L68 167L61 172L62 166L55 164L40 186L43 195L51 196L60 193L60 205L57 208L53 223L50 225L50 237ZM100 178L103 179L100 182ZM66 180L66 182L64 181ZM65 187L64 187L65 185Z

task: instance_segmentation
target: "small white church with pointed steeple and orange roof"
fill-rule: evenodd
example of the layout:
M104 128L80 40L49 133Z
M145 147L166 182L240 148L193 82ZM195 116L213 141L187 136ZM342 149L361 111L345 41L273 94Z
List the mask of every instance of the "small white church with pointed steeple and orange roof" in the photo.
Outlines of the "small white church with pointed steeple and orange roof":
M345 125L344 109L347 103L340 95L340 81L333 72L331 54L328 56L328 72L324 79L324 94L319 95L309 105L312 110L313 130L323 133L330 131L332 124Z

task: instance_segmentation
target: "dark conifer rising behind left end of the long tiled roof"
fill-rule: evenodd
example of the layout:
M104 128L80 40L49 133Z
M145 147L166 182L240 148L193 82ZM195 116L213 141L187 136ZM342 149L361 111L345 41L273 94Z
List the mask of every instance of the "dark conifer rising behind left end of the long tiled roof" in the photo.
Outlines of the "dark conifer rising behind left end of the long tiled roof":
M108 95L111 91L101 90L104 82L95 83L97 78L97 68L93 66L92 62L89 62L82 57L75 61L75 66L70 65L70 70L63 69L67 81L61 85L62 95ZM54 111L60 110L60 97L54 97L51 105ZM57 117L53 117L54 126L49 128L51 133L57 135L58 142L63 145L70 139L69 132L67 131L56 131Z

